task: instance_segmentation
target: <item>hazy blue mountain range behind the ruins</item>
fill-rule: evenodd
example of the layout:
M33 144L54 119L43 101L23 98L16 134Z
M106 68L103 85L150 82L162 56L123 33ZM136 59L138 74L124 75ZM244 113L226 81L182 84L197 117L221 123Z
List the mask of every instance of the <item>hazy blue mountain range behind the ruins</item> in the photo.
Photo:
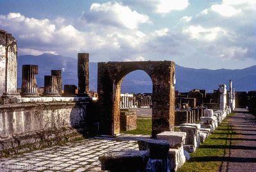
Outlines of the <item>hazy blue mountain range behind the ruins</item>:
M23 64L36 64L39 73L36 76L38 86L44 87L44 76L51 75L52 69L61 69L63 85L77 85L77 59L61 55L42 54L20 55L18 57L18 87L21 87L21 69ZM97 62L90 62L90 90L97 91ZM237 91L256 90L256 66L244 69L193 69L176 65L175 90L188 92L192 89L205 89L212 92L218 84L233 81ZM122 92L152 92L152 82L144 71L133 71L125 76Z

